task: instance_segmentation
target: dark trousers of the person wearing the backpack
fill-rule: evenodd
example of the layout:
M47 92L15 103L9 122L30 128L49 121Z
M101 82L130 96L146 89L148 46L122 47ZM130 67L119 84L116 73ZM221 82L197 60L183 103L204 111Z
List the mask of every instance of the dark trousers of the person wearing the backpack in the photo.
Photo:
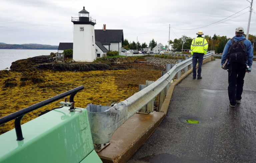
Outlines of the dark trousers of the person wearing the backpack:
M242 99L245 72L246 65L228 65L228 97L231 105L235 105L236 100Z

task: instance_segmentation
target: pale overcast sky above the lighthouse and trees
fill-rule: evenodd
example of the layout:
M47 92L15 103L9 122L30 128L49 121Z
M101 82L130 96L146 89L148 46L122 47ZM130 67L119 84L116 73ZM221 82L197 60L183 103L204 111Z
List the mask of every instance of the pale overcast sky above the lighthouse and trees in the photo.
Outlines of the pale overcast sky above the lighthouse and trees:
M71 17L85 9L96 19L95 29L122 29L124 39L141 44L154 39L167 45L182 35L232 38L242 26L247 32L251 0L1 0L0 42L59 45L73 42ZM255 3L255 2L254 2ZM254 5L252 8L254 9ZM244 10L243 10L244 9ZM242 11L241 11L242 10ZM253 10L255 11L255 10ZM249 34L256 35L252 12Z

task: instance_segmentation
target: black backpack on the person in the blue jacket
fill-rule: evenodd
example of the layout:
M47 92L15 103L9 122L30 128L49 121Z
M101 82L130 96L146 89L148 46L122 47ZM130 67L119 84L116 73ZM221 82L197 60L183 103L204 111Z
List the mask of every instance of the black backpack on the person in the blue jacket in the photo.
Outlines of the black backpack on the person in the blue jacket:
M246 39L240 41L235 41L234 38L231 39L231 45L227 54L228 62L231 65L242 66L246 63L247 56L244 40Z

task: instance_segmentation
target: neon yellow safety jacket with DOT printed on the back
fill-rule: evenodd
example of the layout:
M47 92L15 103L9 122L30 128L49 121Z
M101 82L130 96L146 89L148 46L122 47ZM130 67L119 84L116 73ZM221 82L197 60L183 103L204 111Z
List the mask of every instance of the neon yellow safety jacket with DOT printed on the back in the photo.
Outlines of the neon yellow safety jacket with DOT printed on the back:
M208 50L208 43L205 38L197 37L191 43L191 55L194 53L203 53L206 54Z

